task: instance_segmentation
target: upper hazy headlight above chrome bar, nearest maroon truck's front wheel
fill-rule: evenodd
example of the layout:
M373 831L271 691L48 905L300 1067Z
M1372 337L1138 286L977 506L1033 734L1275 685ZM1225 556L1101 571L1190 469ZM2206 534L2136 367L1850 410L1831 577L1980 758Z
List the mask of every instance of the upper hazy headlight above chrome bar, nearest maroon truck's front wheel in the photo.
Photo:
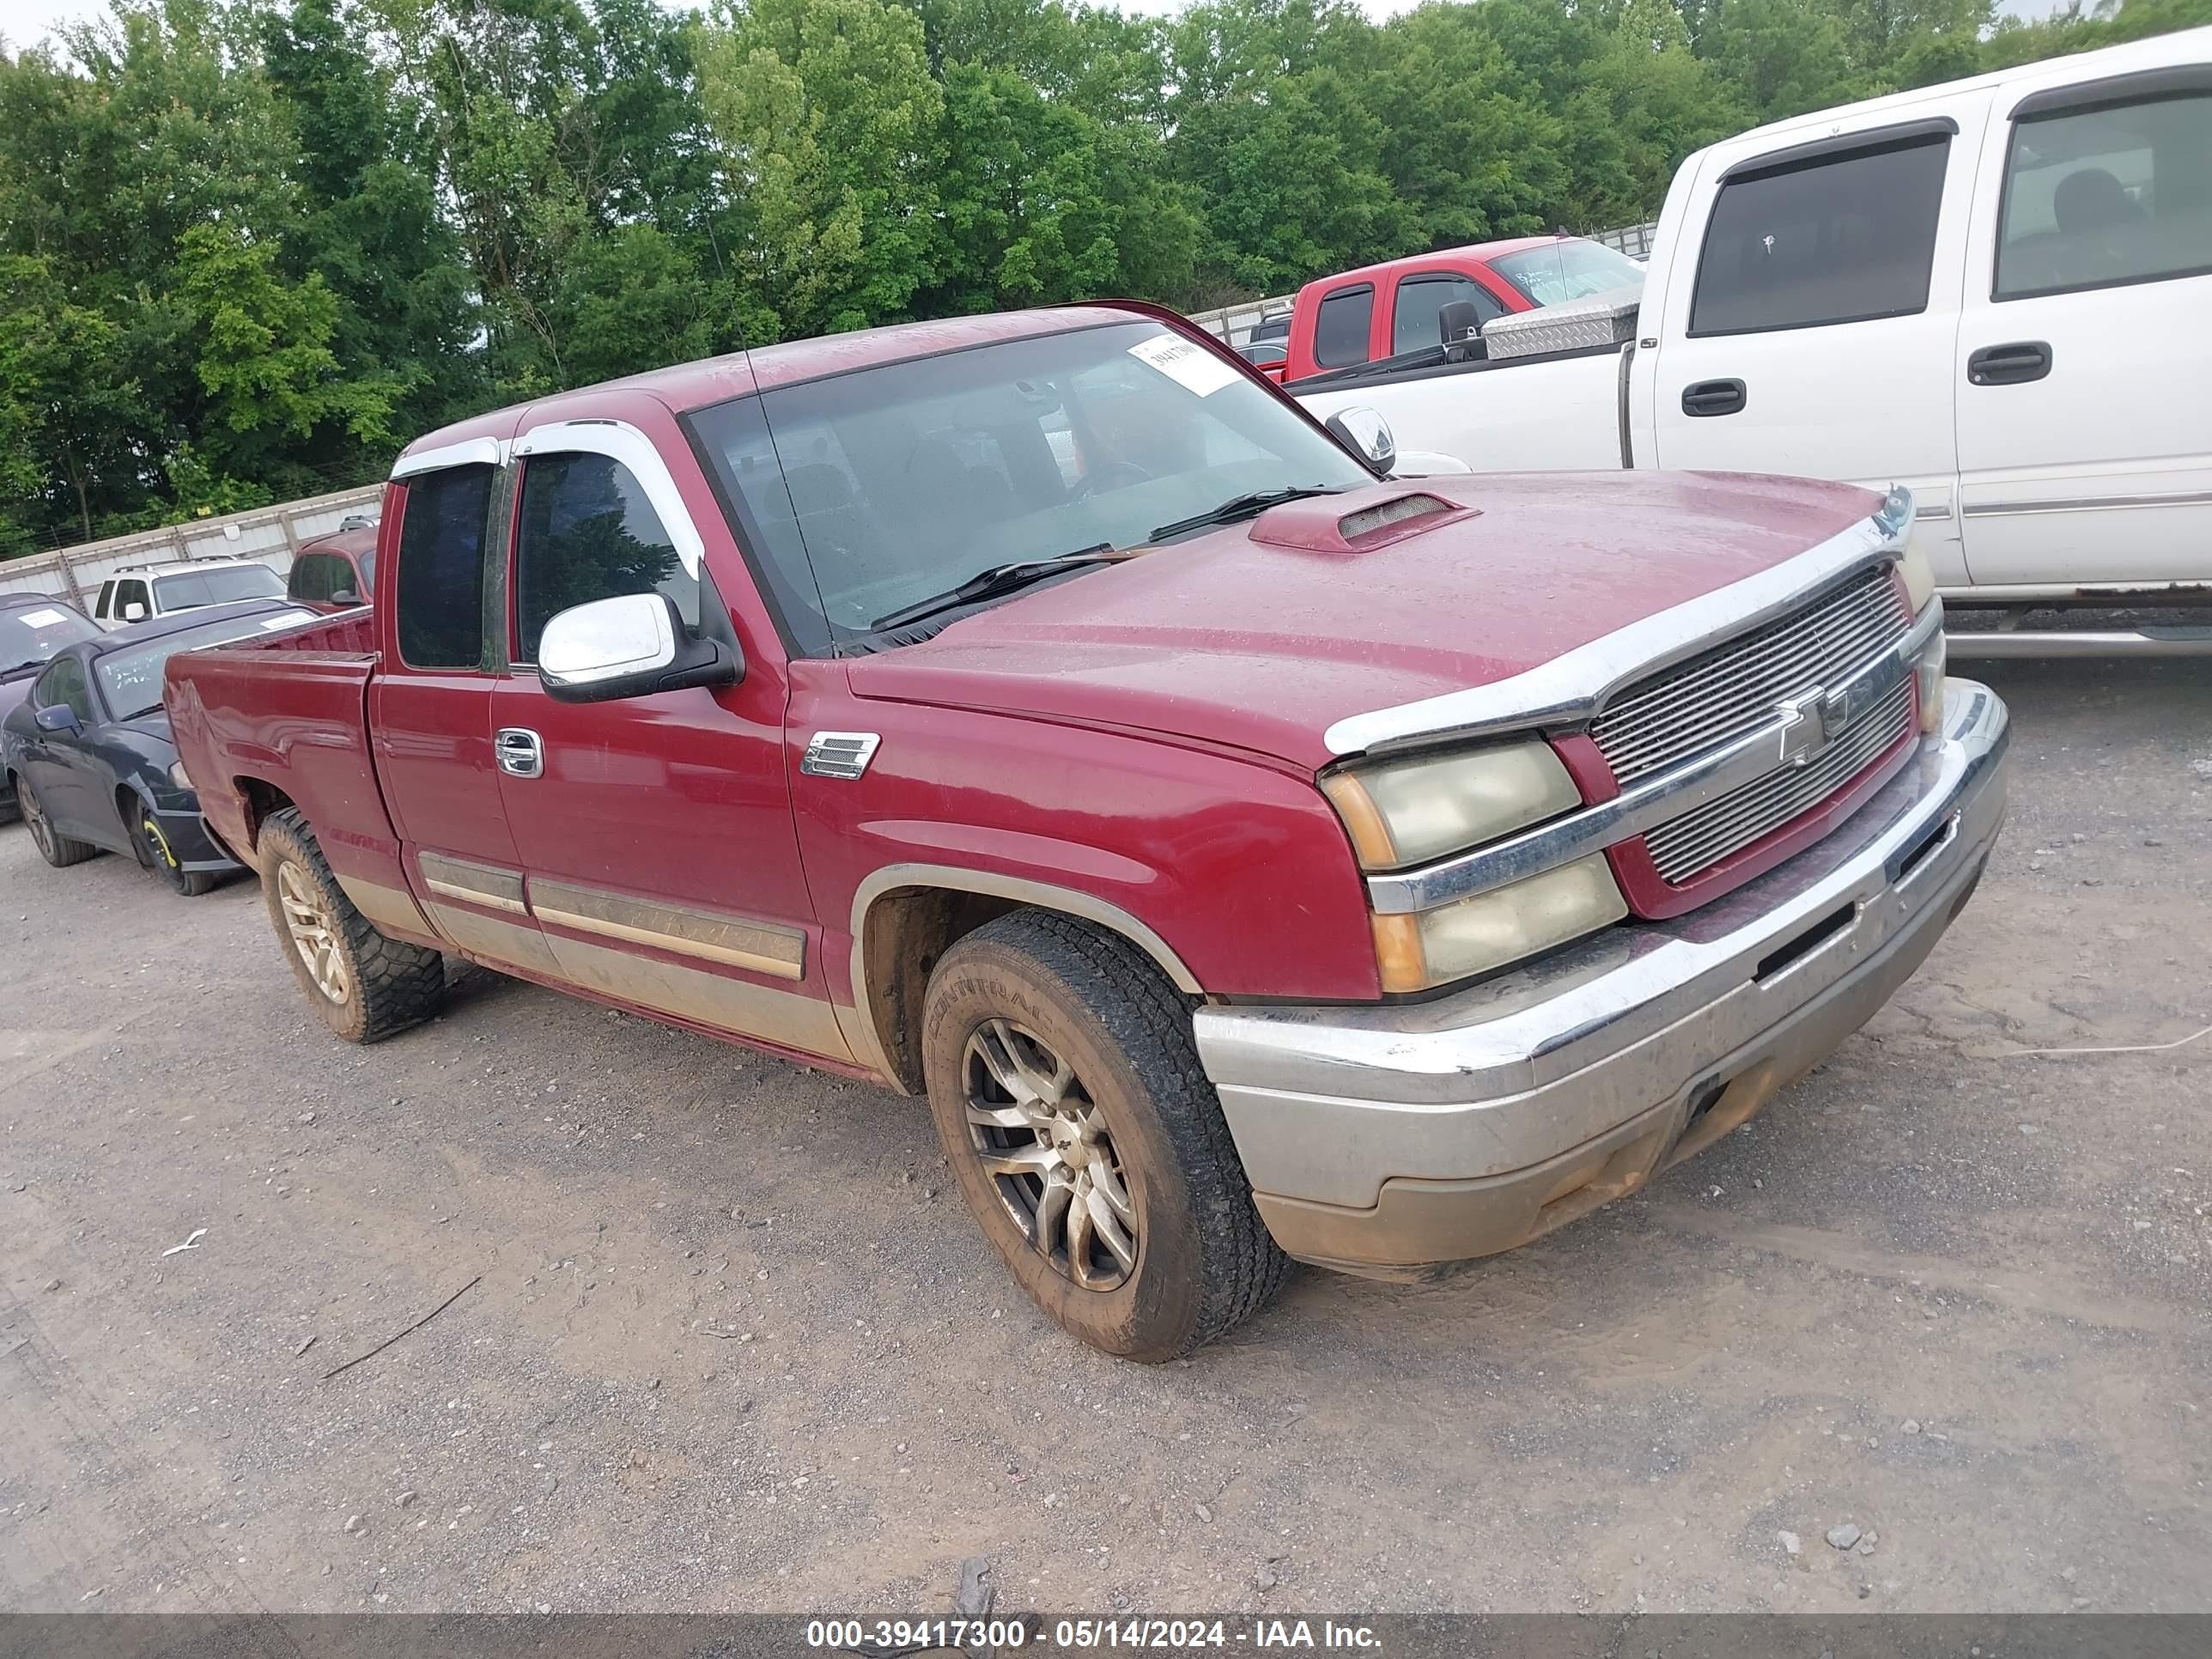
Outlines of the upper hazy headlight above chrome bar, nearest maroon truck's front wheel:
M1376 761L1321 781L1360 869L1405 869L1582 805L1548 743Z

